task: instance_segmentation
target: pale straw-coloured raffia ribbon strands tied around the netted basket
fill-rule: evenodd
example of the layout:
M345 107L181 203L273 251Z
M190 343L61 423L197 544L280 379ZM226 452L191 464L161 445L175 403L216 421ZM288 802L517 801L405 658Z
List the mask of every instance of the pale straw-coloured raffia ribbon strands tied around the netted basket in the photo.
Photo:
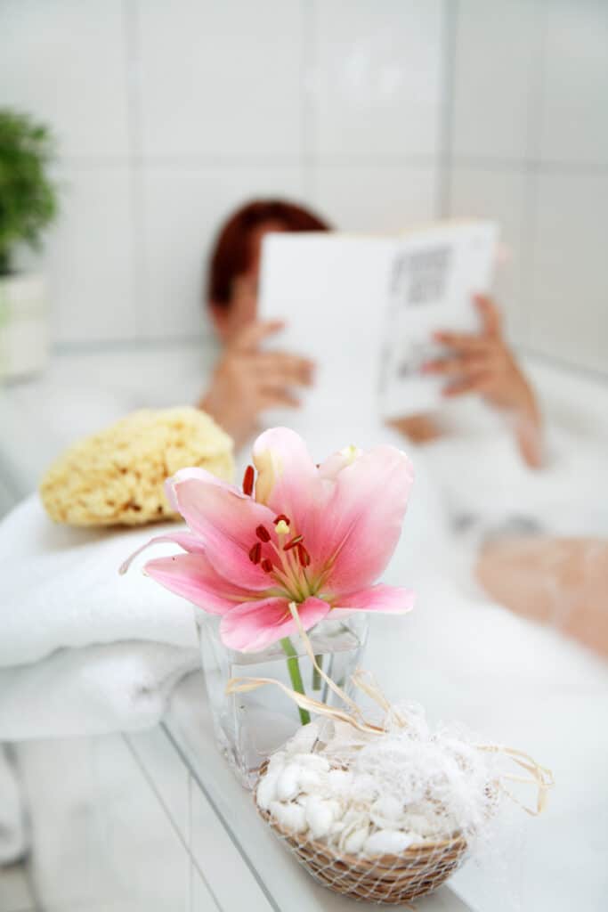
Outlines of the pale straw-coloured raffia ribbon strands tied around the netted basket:
M316 715L325 716L327 719L345 722L348 725L352 725L357 731L363 731L366 734L386 734L386 727L374 725L372 722L366 721L362 711L356 705L355 700L351 700L348 694L325 673L323 668L321 668L314 656L314 649L302 626L302 621L298 616L294 602L290 605L290 609L294 617L295 625L298 628L298 633L300 634L300 637L302 637L304 650L308 658L310 658L313 668L317 674L325 680L327 687L333 690L335 695L342 700L345 703L345 706L349 707L351 711L347 712L346 710L338 710L335 707L327 706L326 703L322 703L320 700L314 700L312 697L307 697L304 693L299 693L297 690L286 687L282 681L274 678L231 678L226 684L226 694L230 696L235 693L249 693L252 690L265 687L267 684L272 684L274 687L283 690L283 693L286 694L290 700L294 700L294 703L302 710L314 712ZM374 700L376 704L385 711L386 717L390 719L391 722L394 722L398 728L407 728L407 719L399 712L396 706L393 706L392 703L386 700L385 694L378 687L376 681L369 672L364 671L362 668L357 668L355 673L351 676L351 680L358 689L366 693L371 700ZM508 758L519 766L520 769L529 773L527 776L522 776L505 772L501 774L500 780L495 784L511 801L519 804L527 814L537 816L543 812L547 803L547 794L555 784L551 770L547 769L545 766L541 766L541 764L533 760L529 754L524 751L518 751L516 748L505 747L500 744L474 744L473 747L477 748L478 751L501 754L503 757ZM504 785L505 780L536 786L536 806L529 807L527 804L520 802L519 798L510 792L510 789Z

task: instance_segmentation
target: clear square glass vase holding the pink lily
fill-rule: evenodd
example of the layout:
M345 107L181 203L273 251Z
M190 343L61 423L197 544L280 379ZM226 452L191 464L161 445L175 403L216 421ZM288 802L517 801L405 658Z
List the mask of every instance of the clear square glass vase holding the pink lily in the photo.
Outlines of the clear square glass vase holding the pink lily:
M215 738L242 784L251 789L266 757L307 719L294 700L273 685L227 695L231 678L272 678L294 689L294 674L299 674L306 696L330 706L340 701L314 670L299 636L290 637L288 643L273 643L263 652L237 652L222 643L220 617L200 608L195 612ZM366 613L325 619L307 633L317 663L352 695L350 676L360 665L366 644Z

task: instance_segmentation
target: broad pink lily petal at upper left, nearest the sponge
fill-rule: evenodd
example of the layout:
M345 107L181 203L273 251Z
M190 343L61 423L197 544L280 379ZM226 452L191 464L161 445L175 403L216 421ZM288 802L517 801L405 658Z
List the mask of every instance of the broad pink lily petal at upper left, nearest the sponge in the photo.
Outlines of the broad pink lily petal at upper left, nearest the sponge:
M181 515L201 536L205 554L218 572L237 586L256 592L267 589L268 576L259 564L252 564L249 552L258 541L257 526L273 534L274 513L204 469L178 472L171 483Z

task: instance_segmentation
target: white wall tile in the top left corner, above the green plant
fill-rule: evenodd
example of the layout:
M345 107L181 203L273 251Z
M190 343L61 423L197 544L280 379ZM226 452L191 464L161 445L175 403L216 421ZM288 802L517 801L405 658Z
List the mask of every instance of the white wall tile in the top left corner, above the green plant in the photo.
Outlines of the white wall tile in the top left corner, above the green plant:
M3 0L0 105L51 124L62 155L129 151L121 0Z

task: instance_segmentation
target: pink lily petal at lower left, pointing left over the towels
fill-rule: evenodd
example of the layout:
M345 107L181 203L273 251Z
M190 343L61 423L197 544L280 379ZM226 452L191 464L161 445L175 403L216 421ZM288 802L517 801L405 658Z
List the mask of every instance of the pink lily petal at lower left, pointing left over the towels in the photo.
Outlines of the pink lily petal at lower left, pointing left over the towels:
M205 554L157 557L145 565L144 573L212 615L223 615L255 596L219 575Z

